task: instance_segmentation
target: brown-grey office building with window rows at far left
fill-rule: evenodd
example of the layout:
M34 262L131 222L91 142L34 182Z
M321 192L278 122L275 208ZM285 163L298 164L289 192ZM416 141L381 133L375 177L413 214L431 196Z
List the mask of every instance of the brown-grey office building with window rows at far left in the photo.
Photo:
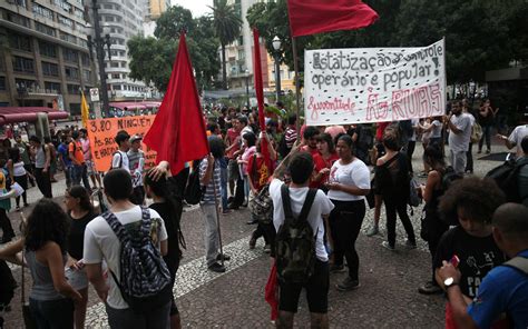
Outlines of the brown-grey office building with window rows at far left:
M96 86L82 0L0 1L0 106L58 106L80 113Z

